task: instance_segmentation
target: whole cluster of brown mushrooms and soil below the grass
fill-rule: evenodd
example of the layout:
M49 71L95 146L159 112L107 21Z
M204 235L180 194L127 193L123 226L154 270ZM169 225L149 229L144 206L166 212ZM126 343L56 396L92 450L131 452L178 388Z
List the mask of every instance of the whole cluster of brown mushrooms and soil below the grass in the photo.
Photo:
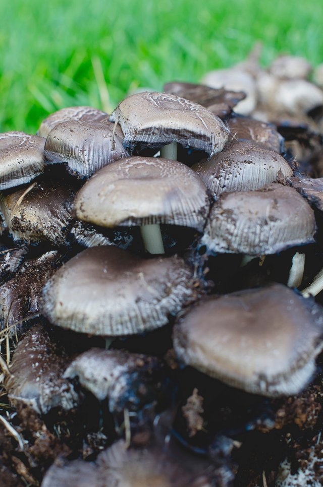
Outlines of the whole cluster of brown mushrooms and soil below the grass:
M323 483L323 92L255 57L0 135L1 485Z

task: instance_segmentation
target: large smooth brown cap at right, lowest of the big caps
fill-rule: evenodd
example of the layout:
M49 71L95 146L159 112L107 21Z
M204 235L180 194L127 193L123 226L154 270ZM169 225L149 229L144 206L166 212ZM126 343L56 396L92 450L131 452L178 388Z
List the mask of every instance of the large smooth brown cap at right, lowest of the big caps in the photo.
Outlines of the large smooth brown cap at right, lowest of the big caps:
M175 326L174 348L185 364L247 392L297 394L315 371L322 323L318 308L275 284L199 301Z

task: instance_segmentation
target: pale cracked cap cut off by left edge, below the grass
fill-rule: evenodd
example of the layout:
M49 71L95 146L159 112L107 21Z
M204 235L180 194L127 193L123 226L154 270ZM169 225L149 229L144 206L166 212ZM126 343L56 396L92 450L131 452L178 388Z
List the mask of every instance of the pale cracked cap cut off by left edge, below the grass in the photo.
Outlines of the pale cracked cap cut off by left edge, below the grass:
M31 181L44 171L45 139L24 132L0 134L0 190Z

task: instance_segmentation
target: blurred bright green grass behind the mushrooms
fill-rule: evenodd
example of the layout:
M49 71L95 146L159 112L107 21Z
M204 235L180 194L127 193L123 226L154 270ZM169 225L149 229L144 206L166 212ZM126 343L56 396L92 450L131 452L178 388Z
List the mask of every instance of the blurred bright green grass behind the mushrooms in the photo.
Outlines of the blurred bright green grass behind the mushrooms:
M130 89L197 82L244 59L323 62L323 2L11 0L0 2L0 132L33 133L48 113L110 111Z

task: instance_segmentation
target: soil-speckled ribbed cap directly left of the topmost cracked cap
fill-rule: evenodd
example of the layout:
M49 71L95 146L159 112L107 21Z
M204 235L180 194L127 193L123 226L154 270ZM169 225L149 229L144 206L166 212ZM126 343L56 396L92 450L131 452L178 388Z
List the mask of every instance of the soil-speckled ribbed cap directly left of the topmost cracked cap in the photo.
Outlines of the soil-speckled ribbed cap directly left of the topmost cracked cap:
M45 156L51 163L67 162L72 174L91 176L106 164L129 156L124 148L123 134L105 121L69 120L56 125L45 143Z

